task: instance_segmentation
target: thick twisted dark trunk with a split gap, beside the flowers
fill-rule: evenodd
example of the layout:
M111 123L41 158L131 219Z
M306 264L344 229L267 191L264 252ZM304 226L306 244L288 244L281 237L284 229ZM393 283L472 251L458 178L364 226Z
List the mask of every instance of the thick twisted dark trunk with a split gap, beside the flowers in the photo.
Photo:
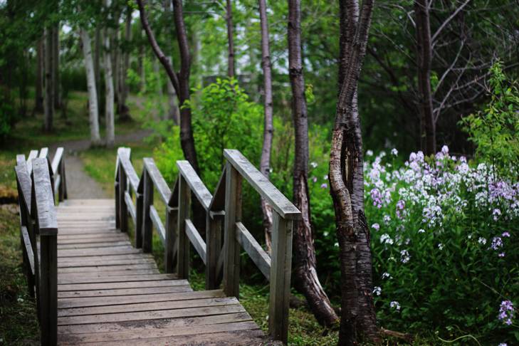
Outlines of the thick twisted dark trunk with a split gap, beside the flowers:
M373 1L340 0L339 98L330 152L330 194L340 248L339 345L379 341L372 296L372 254L364 214L362 135L357 81L366 53ZM360 13L359 13L360 11Z

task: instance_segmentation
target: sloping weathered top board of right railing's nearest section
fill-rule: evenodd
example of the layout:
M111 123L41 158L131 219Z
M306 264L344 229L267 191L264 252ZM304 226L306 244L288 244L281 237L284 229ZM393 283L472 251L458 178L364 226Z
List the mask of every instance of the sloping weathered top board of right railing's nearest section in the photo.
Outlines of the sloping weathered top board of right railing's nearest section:
M224 157L284 219L300 219L299 209L288 200L239 150L225 149Z

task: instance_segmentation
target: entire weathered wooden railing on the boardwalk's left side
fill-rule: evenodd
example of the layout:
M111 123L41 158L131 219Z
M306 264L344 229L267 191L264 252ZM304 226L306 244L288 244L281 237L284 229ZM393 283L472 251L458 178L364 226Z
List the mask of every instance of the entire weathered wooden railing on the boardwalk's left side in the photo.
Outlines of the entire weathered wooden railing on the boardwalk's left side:
M41 344L56 345L58 337L58 223L54 208L66 198L63 148L58 148L53 162L48 149L39 155L31 150L28 159L16 155L16 183L20 209L20 238L23 268L28 292L36 296L41 327ZM39 246L38 246L39 243Z

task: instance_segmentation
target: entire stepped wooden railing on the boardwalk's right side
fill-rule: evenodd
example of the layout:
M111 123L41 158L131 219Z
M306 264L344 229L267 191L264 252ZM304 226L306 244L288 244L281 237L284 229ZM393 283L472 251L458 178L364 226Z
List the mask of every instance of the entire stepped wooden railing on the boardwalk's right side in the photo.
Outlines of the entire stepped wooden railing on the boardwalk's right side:
M206 289L219 288L239 296L241 247L270 281L269 332L276 340L288 336L288 298L292 258L292 224L300 211L238 150L224 150L226 165L211 195L191 164L177 161L179 175L169 189L153 159L145 158L139 179L130 162L130 149L117 150L115 174L116 224L127 231L127 215L135 224L135 245L152 251L152 229L164 244L165 271L189 277L190 244L206 265ZM246 182L273 207L272 253L269 255L241 220L241 183ZM154 207L157 189L166 206L165 225ZM135 203L132 199L135 193ZM192 219L192 196L204 209L206 239ZM198 216L198 213L197 213ZM201 221L201 220L196 220ZM222 246L223 230L223 246Z

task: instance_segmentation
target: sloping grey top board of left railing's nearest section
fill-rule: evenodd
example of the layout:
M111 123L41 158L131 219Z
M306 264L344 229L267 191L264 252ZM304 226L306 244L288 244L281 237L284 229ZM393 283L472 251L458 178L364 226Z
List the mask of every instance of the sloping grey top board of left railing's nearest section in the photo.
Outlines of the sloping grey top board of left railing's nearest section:
M41 236L58 234L58 221L47 159L33 159L33 191L36 200L36 219Z

